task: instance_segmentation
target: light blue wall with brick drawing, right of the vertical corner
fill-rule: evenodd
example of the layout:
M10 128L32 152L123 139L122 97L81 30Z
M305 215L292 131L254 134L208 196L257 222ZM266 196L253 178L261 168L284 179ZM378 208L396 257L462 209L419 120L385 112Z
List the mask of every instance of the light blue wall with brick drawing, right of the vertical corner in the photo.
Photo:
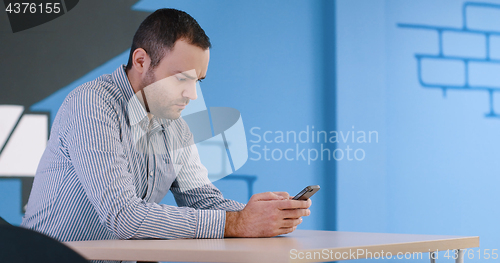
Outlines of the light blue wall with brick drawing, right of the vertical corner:
M488 92L500 87L499 61L488 60L484 34L470 30L500 31L500 6L463 16L464 3L337 1L338 129L380 135L363 162L338 163L339 230L474 235L498 252L500 119L490 107L500 108ZM440 52L436 30L401 24L457 30L443 33ZM418 54L438 58L419 72ZM471 63L466 71L470 58L488 70ZM478 90L481 83L490 89Z

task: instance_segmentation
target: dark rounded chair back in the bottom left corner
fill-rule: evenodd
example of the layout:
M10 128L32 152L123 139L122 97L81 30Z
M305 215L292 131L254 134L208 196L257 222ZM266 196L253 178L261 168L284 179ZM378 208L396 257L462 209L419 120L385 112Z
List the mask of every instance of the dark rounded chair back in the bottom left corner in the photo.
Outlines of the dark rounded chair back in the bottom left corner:
M5 220L2 220L5 222ZM2 263L89 263L63 243L38 232L0 224Z

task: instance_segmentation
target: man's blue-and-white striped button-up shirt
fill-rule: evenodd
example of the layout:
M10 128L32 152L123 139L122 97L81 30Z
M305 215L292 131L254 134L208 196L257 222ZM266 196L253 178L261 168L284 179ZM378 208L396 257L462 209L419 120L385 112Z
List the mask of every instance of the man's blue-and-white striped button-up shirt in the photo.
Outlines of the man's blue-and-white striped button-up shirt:
M176 206L159 204L168 190ZM148 118L122 65L59 109L22 226L60 241L223 238L224 199L182 119Z

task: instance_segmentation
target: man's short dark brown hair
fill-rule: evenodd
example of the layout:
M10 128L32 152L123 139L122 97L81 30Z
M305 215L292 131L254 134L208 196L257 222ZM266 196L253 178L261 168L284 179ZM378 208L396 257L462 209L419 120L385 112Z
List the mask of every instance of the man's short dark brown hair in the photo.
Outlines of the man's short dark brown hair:
M132 68L132 54L136 49L146 51L151 58L151 68L154 69L165 53L173 48L175 41L181 38L202 49L212 46L205 31L186 12L170 8L156 10L142 21L135 32L127 70Z

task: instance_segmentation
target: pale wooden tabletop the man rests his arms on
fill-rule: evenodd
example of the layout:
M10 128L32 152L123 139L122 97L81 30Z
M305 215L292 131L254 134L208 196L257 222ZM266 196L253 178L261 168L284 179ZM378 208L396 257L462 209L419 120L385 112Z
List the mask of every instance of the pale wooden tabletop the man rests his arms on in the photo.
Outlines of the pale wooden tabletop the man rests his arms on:
M89 260L275 263L370 258L369 253L372 258L377 253L379 257L388 257L390 253L392 258L400 253L404 258L405 253L422 252L420 258L429 259L429 252L433 251L463 252L460 249L478 247L479 237L297 230L274 238L99 240L65 244ZM361 251L364 255L360 255ZM315 258L307 259L307 255ZM456 262L462 263L463 253L459 255Z

